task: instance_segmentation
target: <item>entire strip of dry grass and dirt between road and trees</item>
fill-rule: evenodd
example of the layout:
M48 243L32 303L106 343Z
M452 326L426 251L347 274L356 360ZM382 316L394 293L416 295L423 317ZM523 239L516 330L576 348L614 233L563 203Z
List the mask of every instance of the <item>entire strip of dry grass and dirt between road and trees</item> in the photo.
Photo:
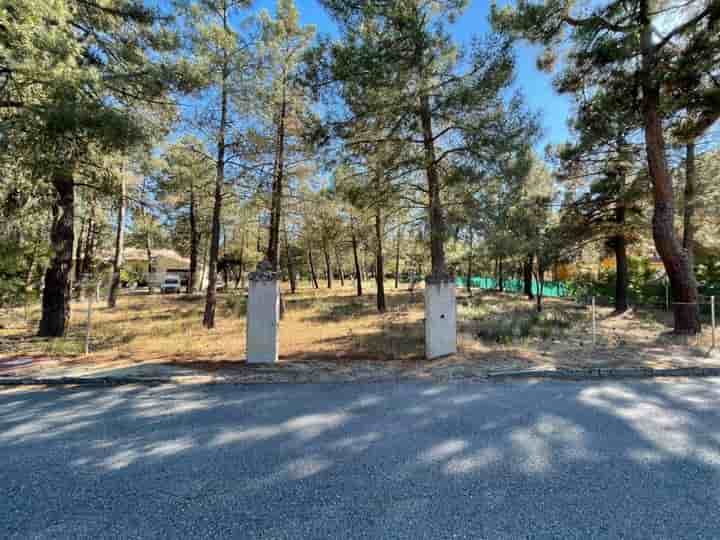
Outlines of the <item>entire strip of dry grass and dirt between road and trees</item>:
M115 310L93 306L90 353L85 354L87 302L75 302L68 336L34 336L37 307L0 318L0 376L118 373L137 366L153 373L184 368L222 372L249 381L322 381L388 376L455 377L498 369L691 367L720 365L708 354L710 329L682 339L671 316L658 311L613 315L598 308L593 342L591 310L547 299L542 315L519 295L464 289L458 294L458 354L428 362L423 349L423 291L388 283L388 312L375 309L374 289L357 297L349 283L333 289L303 284L285 294L280 362L248 366L245 294L219 296L217 328L201 325L201 295L124 294Z

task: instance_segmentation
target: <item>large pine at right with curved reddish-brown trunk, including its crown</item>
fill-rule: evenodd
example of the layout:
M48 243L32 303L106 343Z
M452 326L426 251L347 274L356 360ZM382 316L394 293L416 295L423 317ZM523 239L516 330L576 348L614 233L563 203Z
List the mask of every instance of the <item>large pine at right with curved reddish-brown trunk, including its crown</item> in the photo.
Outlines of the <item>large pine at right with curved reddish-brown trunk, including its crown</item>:
M658 29L656 23L661 17L679 22L669 29ZM710 63L702 65L717 69L717 0L677 5L661 0L606 0L583 6L576 6L572 0L541 4L522 0L514 8L494 8L493 21L503 31L545 46L540 63L548 69L570 30L572 47L559 89L601 90L618 110L641 111L654 199L653 238L672 287L675 332L698 332L698 289L688 254L675 233L673 182L663 119L668 108L672 109L667 102L672 97L670 89L680 84L705 105L717 103L717 88L708 92L703 77L688 76L692 69L680 60L686 56L708 58ZM696 124L712 123L717 118L716 107L694 110L698 111Z

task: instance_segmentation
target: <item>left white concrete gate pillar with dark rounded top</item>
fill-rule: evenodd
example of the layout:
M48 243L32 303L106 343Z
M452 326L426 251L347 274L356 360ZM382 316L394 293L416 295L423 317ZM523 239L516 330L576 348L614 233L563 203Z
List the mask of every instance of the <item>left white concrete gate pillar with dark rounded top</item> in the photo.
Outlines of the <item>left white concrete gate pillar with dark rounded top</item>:
M279 348L280 284L264 261L248 276L247 362L277 362Z

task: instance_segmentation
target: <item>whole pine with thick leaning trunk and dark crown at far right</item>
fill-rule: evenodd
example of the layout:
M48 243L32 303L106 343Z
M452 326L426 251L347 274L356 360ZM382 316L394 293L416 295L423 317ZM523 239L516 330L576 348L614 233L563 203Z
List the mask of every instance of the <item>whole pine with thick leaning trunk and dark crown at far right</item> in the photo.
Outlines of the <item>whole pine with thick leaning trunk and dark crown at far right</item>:
M674 187L664 124L674 120L676 136L694 141L720 117L717 2L521 0L493 6L492 22L550 55L564 54L555 84L576 99L580 146L589 142L586 151L600 147L607 159L611 141L621 148L625 141L644 138L653 238L673 283L675 331L697 333L699 319L688 307L698 294L691 257L672 226Z

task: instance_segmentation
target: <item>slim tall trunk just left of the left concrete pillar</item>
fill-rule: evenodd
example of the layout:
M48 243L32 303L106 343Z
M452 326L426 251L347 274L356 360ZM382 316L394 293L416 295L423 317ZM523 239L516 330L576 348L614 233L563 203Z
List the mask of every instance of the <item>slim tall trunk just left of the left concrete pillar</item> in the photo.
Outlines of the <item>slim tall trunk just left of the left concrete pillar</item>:
M227 13L223 12L223 27L227 30ZM210 237L210 260L208 261L208 288L205 297L203 326L215 328L215 307L217 305L217 261L220 250L220 212L222 211L223 187L225 185L225 130L227 128L229 61L223 53L222 81L220 95L220 125L218 129L217 159L215 161L215 204L213 206L212 233Z

